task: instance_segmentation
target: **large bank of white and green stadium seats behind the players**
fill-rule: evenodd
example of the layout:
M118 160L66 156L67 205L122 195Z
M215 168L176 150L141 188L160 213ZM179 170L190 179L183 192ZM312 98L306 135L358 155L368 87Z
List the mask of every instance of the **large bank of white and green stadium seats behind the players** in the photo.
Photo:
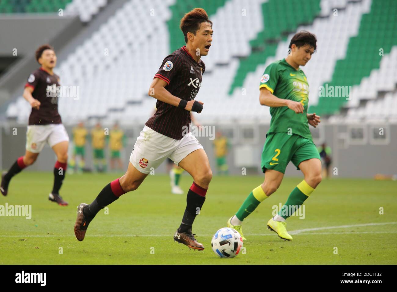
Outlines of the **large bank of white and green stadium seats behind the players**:
M349 120L356 114L360 120L371 120L374 116L368 108L387 105L389 110L382 118L397 120L397 2L293 3L296 5L275 0L199 3L214 22L214 41L210 54L203 57L206 73L196 98L205 102L199 121L243 123L254 119L268 123L269 109L258 102L260 76L271 62L285 58L291 37L301 30L318 38L316 54L302 68L310 85L310 111L334 114L331 121ZM156 102L147 96L153 75L163 58L184 43L179 21L196 6L197 1L130 0L60 60L56 72L61 84L80 89L79 100L65 97L59 101L64 122L75 124L86 118L145 122ZM289 15L288 21L274 19L271 12L281 9ZM379 55L380 48L384 56ZM319 87L326 83L351 85L352 98L319 97ZM379 92L387 94L380 97ZM366 100L370 102L361 102ZM7 115L24 123L29 112L29 104L20 97L10 104Z

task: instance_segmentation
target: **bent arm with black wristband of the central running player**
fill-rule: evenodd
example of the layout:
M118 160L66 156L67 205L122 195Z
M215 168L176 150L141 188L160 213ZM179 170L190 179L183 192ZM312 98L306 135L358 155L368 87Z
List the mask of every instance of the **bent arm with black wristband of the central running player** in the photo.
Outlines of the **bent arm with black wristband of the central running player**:
M188 110L189 112L198 112L200 113L202 110L202 104L204 102L201 101L184 101L183 99L180 99L179 97L176 97L175 95L172 95L165 87L168 85L168 83L158 77L155 77L152 81L152 84L150 84L150 88L148 91L148 95L151 97L154 97L155 99L158 99L159 101L171 104L173 106L178 106L181 108L184 108L185 110Z

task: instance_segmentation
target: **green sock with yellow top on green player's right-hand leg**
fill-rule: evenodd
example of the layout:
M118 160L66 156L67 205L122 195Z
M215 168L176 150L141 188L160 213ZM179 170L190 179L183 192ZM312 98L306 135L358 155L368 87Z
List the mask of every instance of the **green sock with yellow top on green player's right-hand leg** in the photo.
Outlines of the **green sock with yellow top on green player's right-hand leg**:
M278 215L283 217L284 219L290 217L293 213L295 213L297 209L299 209L299 207L313 191L314 189L309 186L305 180L303 180L295 187L295 189L293 189L293 191L291 191L287 201L278 212Z

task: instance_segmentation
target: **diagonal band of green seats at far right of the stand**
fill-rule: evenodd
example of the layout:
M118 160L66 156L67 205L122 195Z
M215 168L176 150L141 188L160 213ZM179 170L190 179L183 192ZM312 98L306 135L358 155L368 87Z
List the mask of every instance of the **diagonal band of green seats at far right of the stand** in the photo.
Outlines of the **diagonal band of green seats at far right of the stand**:
M378 69L382 54L389 54L397 45L397 2L372 1L371 9L361 18L358 35L350 39L345 58L338 60L328 86L353 86ZM324 85L325 86L325 83ZM345 97L320 97L310 111L335 114L345 104Z

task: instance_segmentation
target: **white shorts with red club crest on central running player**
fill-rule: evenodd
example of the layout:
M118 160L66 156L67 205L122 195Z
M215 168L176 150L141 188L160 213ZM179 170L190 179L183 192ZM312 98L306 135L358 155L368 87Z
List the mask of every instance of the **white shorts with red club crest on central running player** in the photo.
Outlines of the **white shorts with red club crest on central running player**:
M140 172L150 173L151 168L156 169L167 157L178 165L197 149L204 148L191 132L176 140L145 126L135 142L129 162Z

